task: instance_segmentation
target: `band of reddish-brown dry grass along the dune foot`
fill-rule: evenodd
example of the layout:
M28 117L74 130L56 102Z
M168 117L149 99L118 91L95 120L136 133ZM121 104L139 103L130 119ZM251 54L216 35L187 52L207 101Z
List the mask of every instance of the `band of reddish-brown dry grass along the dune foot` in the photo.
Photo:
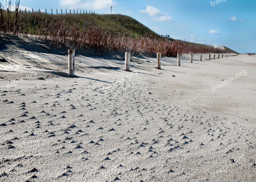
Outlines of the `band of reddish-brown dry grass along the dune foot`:
M9 4L10 6L10 4ZM131 51L136 53L162 53L164 56L177 56L188 53L223 53L225 50L213 46L197 46L181 41L159 39L158 36L137 38L116 34L113 30L102 29L97 25L81 25L77 22L68 24L66 17L55 17L19 11L19 0L16 0L15 11L4 10L0 4L0 32L19 36L23 34L49 40L51 45L73 48L90 48L99 52ZM32 19L32 20L31 20ZM1 35L1 34L0 34Z

